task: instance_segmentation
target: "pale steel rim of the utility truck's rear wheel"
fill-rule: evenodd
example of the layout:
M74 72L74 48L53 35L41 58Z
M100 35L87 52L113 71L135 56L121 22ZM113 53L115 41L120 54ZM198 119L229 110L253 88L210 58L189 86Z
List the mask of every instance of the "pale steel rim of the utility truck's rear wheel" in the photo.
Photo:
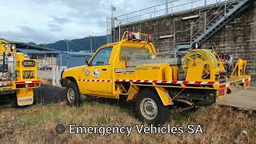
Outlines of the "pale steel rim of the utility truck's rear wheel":
M140 104L143 117L152 120L158 114L158 106L151 98L144 98Z

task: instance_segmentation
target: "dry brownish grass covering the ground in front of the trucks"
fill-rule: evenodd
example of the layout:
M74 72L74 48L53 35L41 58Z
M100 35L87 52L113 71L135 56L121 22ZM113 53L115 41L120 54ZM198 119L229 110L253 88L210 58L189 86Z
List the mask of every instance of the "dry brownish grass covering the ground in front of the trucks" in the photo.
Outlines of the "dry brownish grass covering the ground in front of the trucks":
M134 126L141 122L129 104L93 99L79 108L65 104L30 106L25 109L0 110L0 143L256 143L254 113L227 106L210 106L174 114L167 124L183 126L200 124L204 134L56 134L59 123L68 126ZM247 134L242 134L246 130Z

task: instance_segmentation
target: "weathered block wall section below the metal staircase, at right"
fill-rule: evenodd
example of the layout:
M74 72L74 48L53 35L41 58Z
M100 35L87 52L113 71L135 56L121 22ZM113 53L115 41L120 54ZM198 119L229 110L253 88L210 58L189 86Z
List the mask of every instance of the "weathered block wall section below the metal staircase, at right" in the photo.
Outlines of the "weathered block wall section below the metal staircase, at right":
M248 60L248 71L256 73L256 3L219 30L203 46L216 46L222 53Z

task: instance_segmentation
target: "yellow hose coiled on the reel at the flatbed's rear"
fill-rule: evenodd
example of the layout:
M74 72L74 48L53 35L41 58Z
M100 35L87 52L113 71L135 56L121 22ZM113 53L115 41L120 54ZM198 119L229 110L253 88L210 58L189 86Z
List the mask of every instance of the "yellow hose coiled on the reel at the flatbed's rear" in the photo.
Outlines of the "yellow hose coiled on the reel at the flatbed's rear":
M190 53L186 54L184 60L182 62L182 67L185 73L187 73L190 63L193 62L193 65L196 65L196 61L208 61L211 63L206 64L202 71L202 78L207 78L210 75L210 68L217 69L218 68L218 59L216 58L217 54L213 50L206 49L194 49L191 50ZM197 73L197 71L195 71Z

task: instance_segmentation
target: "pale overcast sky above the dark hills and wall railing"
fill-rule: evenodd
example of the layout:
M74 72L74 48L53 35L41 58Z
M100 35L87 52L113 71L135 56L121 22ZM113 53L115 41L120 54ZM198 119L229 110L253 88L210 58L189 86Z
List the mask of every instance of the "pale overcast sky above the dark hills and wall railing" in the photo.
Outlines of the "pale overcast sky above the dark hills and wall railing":
M0 0L0 38L50 43L106 34L110 6L116 15L165 0Z

